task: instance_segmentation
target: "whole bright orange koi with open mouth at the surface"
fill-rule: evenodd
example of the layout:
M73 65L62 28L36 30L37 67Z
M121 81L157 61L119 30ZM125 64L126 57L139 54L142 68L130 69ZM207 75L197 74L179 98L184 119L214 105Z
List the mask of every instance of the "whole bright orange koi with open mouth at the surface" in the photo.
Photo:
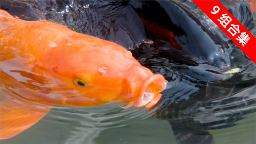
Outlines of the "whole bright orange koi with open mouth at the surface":
M166 88L161 74L115 43L4 10L0 18L1 139L29 128L54 105L151 107Z

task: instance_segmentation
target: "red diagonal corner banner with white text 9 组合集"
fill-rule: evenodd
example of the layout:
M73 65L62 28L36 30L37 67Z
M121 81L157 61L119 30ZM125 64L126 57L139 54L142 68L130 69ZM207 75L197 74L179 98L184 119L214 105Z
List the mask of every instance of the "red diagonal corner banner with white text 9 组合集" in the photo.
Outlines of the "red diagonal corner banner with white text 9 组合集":
M256 63L255 37L218 0L193 2Z

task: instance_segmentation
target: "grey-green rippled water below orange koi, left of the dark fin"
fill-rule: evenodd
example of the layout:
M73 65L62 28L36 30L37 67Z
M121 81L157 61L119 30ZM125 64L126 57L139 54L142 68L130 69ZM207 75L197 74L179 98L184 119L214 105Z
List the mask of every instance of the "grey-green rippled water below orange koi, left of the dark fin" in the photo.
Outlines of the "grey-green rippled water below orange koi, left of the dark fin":
M152 135L154 137L155 135L159 135L159 137L163 138L162 134L164 134L164 131L166 132L164 134L165 136L172 136L171 126L166 121L158 120L153 117L147 117L146 119L131 119L128 115L132 113L124 112L122 108L119 107L119 104L109 104L97 108L99 109L76 108L65 111L52 109L49 114L28 129L28 131L22 132L12 140L3 140L1 142L124 143L126 141L127 143L136 143L142 140L141 136L148 142L149 139L147 135L151 137L151 140L155 139ZM103 108L104 110L102 110ZM76 111L76 114L74 111ZM95 113L92 113L92 111ZM112 113L112 116L98 116L99 114L107 113L108 111ZM90 114L86 112L90 112ZM167 129L165 129L166 126ZM31 137L31 139L28 140L28 137ZM154 141L157 142L157 140L159 139L155 139ZM169 138L169 140L171 139ZM162 139L161 141L165 140ZM173 142L175 142L175 139L173 139Z

